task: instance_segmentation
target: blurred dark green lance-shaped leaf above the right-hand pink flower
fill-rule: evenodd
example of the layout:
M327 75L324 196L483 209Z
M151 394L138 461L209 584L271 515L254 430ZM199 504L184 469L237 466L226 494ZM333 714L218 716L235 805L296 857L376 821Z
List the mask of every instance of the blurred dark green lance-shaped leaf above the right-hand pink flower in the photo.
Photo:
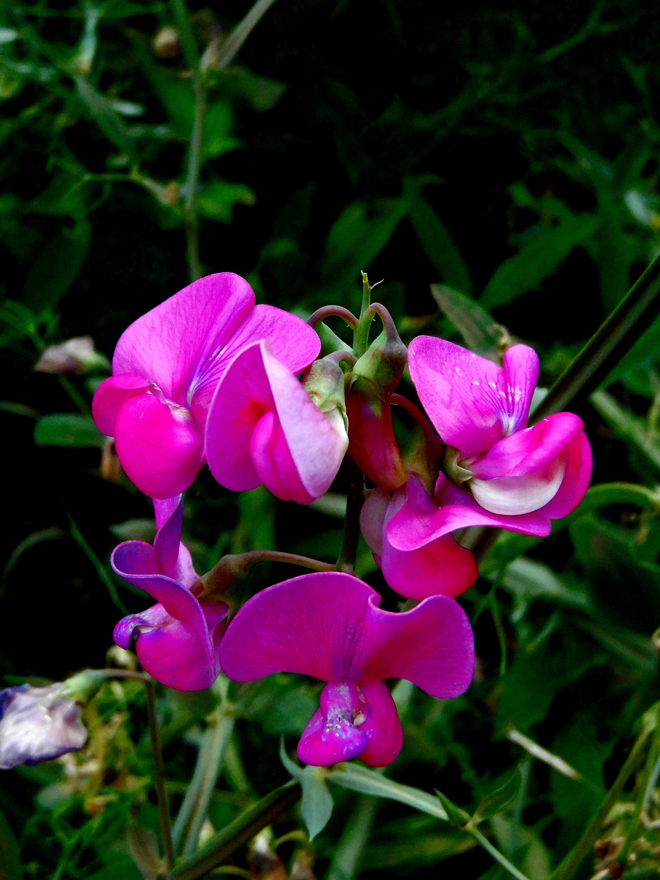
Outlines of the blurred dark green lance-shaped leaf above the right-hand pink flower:
M530 290L538 290L568 254L590 238L597 226L596 217L572 216L558 226L540 231L536 238L495 270L480 296L480 305L492 309L509 304Z

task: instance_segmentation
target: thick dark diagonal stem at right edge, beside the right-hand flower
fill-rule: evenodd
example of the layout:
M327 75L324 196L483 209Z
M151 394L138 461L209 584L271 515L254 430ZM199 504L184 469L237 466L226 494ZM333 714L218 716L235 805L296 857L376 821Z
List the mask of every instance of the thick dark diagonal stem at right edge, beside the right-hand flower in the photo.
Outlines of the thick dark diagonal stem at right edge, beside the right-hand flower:
M620 304L568 364L532 413L534 424L565 411L576 397L587 397L612 372L660 312L660 254L649 263Z

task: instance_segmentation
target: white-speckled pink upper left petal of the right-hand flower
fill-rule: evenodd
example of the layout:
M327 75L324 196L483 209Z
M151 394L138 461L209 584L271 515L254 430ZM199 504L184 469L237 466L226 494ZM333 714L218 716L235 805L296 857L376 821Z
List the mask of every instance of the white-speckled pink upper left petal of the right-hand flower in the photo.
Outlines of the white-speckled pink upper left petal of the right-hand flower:
M445 444L464 457L485 452L502 437L504 371L453 342L417 336L408 367L422 406Z

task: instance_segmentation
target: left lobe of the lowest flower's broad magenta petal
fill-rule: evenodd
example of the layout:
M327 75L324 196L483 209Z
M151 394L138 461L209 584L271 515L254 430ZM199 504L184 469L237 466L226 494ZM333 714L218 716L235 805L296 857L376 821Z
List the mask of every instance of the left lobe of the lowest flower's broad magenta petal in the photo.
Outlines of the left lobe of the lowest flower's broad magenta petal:
M380 601L375 590L340 572L276 583L249 599L231 620L220 648L222 668L234 681L275 672L357 680L370 601Z

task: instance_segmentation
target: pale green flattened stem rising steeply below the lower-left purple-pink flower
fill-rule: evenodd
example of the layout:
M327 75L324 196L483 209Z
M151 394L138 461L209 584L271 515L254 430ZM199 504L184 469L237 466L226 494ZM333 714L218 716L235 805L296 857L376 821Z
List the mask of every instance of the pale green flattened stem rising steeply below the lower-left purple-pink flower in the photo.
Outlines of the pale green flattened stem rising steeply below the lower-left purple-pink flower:
M202 736L193 778L172 829L174 848L184 855L197 848L233 727L234 719L221 704L211 715L209 727Z

